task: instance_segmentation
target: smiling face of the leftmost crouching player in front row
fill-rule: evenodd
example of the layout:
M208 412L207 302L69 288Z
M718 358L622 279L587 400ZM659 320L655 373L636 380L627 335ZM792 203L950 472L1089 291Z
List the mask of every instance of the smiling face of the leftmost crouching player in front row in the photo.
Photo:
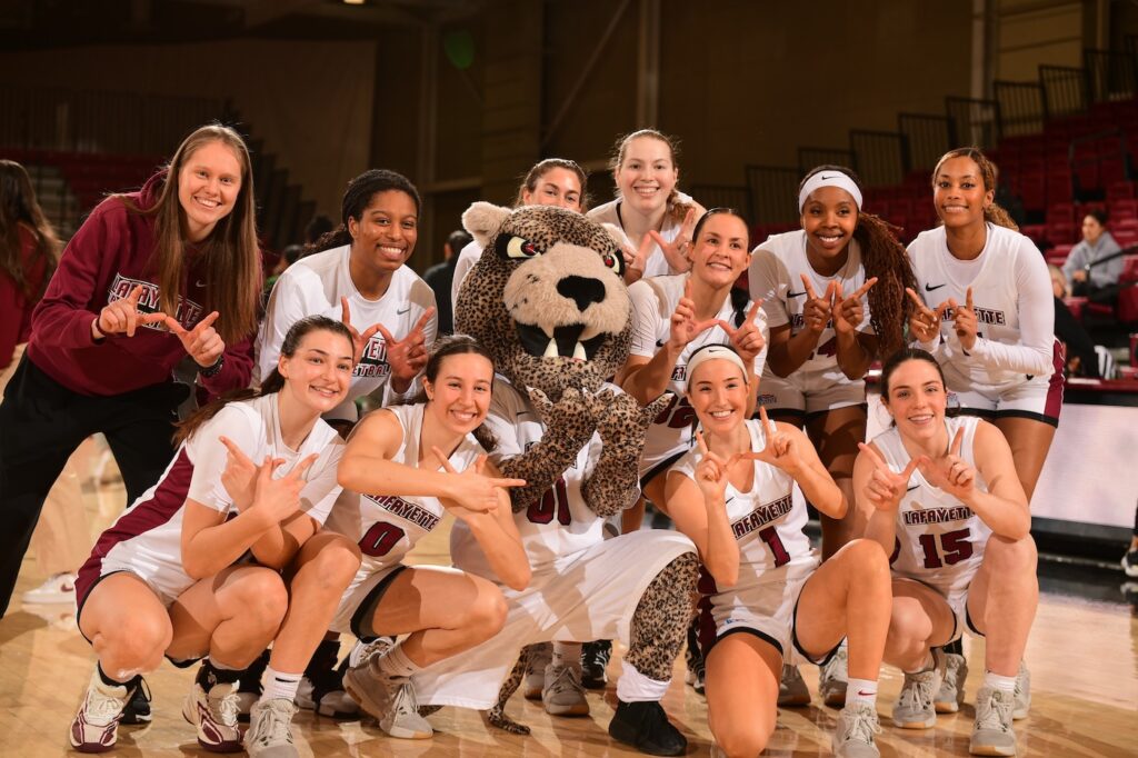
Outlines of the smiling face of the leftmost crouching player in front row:
M318 414L331 411L347 397L352 366L352 343L327 329L310 331L291 356L282 354L277 361L284 377L284 392Z

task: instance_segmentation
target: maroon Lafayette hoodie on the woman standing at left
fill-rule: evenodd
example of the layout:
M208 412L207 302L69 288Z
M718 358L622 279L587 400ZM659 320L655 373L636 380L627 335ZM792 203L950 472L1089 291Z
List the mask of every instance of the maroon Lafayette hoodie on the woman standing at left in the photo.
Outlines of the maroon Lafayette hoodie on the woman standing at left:
M140 192L130 195L141 208L158 199L165 172L155 174ZM139 311L160 310L155 253L155 220L131 213L117 198L91 212L64 249L43 299L32 314L27 356L40 370L81 395L119 395L171 381L184 357L181 340L165 328L140 327L133 337L109 335L96 343L91 322L112 300L142 285ZM178 303L178 320L191 329L205 313L204 272L187 252L187 288ZM224 314L222 318L225 318ZM225 346L217 376L199 378L211 395L246 387L253 371L253 336Z

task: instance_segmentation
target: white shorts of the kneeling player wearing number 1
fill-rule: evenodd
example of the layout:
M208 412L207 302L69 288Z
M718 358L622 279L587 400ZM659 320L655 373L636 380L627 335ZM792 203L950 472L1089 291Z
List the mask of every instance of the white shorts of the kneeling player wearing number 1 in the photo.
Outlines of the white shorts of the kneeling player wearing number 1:
M761 577L745 585L703 595L699 605L703 657L707 658L715 643L728 634L745 632L777 649L787 665L822 665L828 660L833 651L811 658L798 645L794 634L799 595L818 565L816 555L795 559L781 568L764 571Z

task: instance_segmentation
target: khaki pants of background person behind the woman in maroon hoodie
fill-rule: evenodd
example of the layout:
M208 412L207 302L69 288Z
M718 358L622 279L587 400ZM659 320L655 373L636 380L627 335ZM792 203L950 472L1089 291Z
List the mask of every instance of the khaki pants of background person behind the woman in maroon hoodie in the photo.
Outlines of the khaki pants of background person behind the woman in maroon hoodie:
M24 345L17 345L11 363L0 371L0 397L3 397L8 379L23 355ZM80 478L81 471L90 470L89 443L90 440L84 443L68 459L43 502L40 520L32 533L32 550L35 551L36 563L46 577L77 571L91 554L91 532Z

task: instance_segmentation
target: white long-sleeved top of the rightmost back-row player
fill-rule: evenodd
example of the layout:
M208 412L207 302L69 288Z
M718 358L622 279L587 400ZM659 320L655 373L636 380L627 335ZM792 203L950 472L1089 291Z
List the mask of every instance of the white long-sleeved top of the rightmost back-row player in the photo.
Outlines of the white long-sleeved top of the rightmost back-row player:
M943 226L921 232L909 245L913 273L930 307L949 298L963 306L972 288L978 330L968 354L956 336L951 308L941 316L940 338L921 344L937 355L954 392L998 393L1055 372L1055 296L1047 262L1023 234L987 226L984 248L970 262L949 252Z

